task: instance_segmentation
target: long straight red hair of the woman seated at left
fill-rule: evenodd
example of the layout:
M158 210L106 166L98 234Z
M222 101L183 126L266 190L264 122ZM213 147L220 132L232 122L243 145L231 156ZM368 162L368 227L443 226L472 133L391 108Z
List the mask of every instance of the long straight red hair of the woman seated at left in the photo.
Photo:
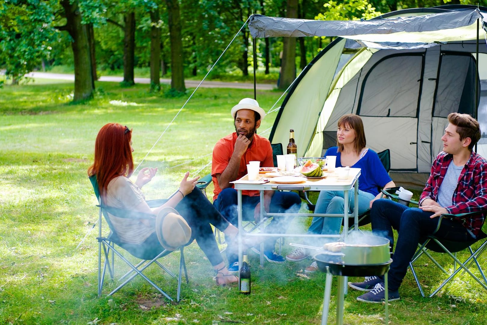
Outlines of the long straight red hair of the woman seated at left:
M133 172L132 130L118 123L105 124L94 143L94 163L88 176L96 175L100 195L107 192L108 183L117 176L130 177Z

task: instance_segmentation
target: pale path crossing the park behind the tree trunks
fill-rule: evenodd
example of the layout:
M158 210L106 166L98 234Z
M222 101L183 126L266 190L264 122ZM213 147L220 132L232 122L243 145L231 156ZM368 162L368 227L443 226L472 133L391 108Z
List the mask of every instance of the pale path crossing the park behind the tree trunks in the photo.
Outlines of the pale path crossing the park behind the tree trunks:
M26 76L31 78L56 79L56 80L71 80L75 81L75 75L67 74L53 74L48 72L31 72ZM121 76L100 76L98 81L112 81L122 82ZM135 83L150 83L150 78L134 78ZM161 79L162 83L170 84L171 79ZM185 80L187 88L196 88L201 80ZM204 88L239 88L239 89L254 89L254 84L249 82L227 82L227 81L204 81L200 87ZM258 83L256 85L258 90L273 90L274 84Z

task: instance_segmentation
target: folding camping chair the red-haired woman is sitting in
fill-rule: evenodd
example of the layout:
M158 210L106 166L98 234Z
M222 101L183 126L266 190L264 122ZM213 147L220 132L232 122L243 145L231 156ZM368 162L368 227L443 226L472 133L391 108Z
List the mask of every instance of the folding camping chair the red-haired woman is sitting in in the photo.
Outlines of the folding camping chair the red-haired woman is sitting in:
M158 265L161 269L166 271L171 277L177 279L177 296L176 296L176 301L179 301L180 299L180 293L181 293L181 277L182 277L182 271L184 269L185 277L186 277L186 283L188 283L188 277L187 277L187 269L186 269L186 263L184 259L184 247L181 246L179 248L180 251L180 259L179 259L179 276L176 276L174 273L172 273L168 268L163 266L158 259L160 259L163 256L168 255L171 253L171 250L164 249L163 251L154 251L154 250L141 250L140 245L134 245L134 244L128 244L124 243L120 240L116 232L114 231L113 225L110 221L110 218L108 216L108 213L117 216L119 218L131 218L131 219L139 219L139 220L149 220L150 222L155 222L154 216L151 214L147 213L141 213L141 212L133 212L130 210L123 210L123 209L117 209L109 206L102 205L100 202L100 192L98 189L98 183L96 182L96 176L90 176L90 181L92 182L94 192L96 194L96 198L98 199L98 205L97 207L99 208L99 213L98 213L98 237L96 238L98 240L98 297L101 297L101 291L103 288L103 284L105 282L105 274L108 269L110 278L113 281L114 277L114 255L117 255L127 266L130 268L125 275L123 275L119 281L123 281L118 287L112 290L108 295L111 296L118 290L120 290L123 286L125 286L127 283L129 283L133 278L135 278L137 275L141 276L143 279L145 279L149 284L154 287L157 291L159 291L161 294L163 294L166 298L168 298L170 301L173 301L173 299L169 296L168 293L166 293L164 290L162 290L159 286L157 286L154 282L152 282L144 273L143 271L148 268L150 265L155 264ZM153 200L153 201L148 201L149 206L160 206L163 203L161 200ZM169 212L175 212L174 209L172 208L167 208L166 213ZM107 222L109 228L110 228L110 233L108 236L102 236L102 214L105 218L105 221ZM191 241L190 241L191 242ZM103 248L103 254L105 256L105 262L103 264L103 271L101 269L101 255L102 255L102 248ZM137 263L136 265L133 265L128 258L126 258L122 253L123 250L127 251L130 253L132 256L140 259L141 261Z

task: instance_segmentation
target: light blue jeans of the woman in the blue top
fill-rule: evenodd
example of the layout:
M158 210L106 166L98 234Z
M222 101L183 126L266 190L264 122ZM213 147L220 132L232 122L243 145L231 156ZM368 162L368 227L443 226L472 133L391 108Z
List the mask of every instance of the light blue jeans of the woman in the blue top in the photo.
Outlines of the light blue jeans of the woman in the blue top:
M320 191L315 213L343 214L345 211L344 195L344 191ZM369 209L370 201L372 201L374 197L374 194L358 190L358 214L364 213ZM355 209L355 189L348 191L348 199L349 213L353 213ZM342 220L343 217L313 217L308 233L338 234L340 233ZM315 244L317 243L316 239L312 240ZM319 241L319 243L321 243L321 241Z

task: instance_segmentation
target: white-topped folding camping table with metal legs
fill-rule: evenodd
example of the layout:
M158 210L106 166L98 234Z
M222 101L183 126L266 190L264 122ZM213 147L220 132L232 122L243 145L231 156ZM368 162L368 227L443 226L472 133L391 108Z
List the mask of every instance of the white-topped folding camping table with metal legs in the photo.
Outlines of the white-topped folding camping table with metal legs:
M272 181L271 177L265 177L269 182L263 183L263 181L249 181L247 175L241 179L232 182L237 190L237 212L238 212L238 242L239 242L239 265L242 265L242 190L258 190L260 191L261 200L261 219L263 220L264 215L267 217L278 217L282 215L289 215L289 213L266 213L264 212L264 206L262 204L264 199L264 191L278 191L278 190L298 190L298 191L344 191L344 214L343 214L343 224L345 231L341 235L322 235L322 234L288 234L288 233L265 233L263 231L263 224L261 224L261 232L259 233L247 233L247 236L268 236L268 237L320 237L320 238L346 238L348 235L348 210L349 210L349 198L348 191L355 187L355 202L358 200L358 176L360 176L360 168L351 168L348 179L338 180L336 173L331 173L325 178L308 178L305 182L298 184L279 184ZM337 214L326 214L326 213L293 213L295 216L314 216L314 217L329 217L337 216ZM355 219L355 229L358 229L358 209L354 209L354 219ZM261 244L261 252L263 251L263 244ZM261 254L260 260L261 267L264 264L264 257ZM240 281L240 280L239 280ZM345 281L346 283L346 281Z

